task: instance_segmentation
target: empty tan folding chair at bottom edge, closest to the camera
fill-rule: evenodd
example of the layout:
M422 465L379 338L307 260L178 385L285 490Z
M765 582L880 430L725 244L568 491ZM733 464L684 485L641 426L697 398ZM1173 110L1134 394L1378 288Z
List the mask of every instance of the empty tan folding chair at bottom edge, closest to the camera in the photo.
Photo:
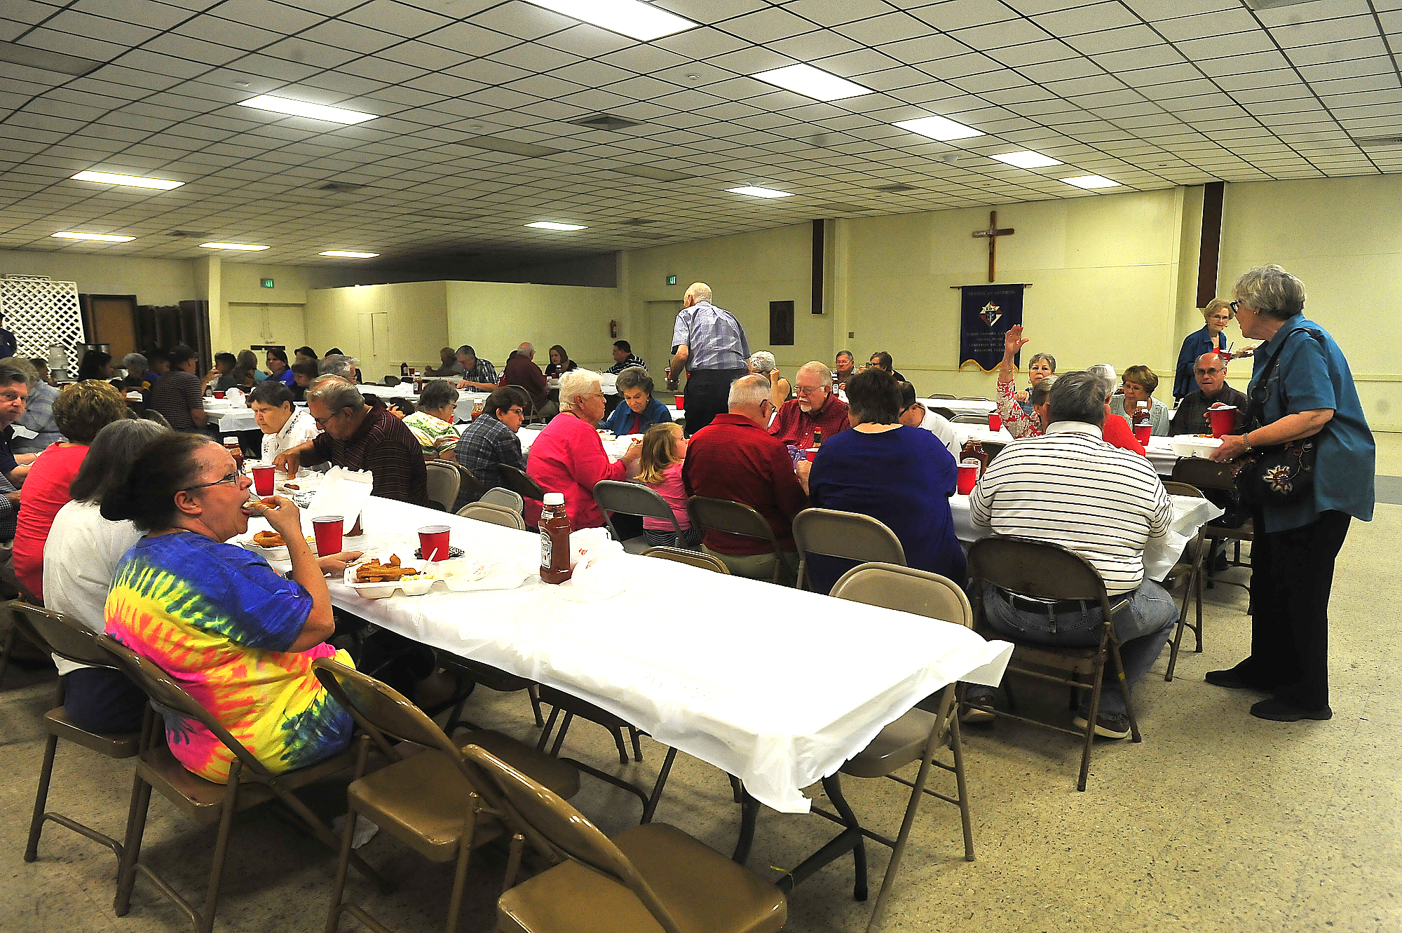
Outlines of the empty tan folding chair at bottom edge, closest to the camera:
M788 919L782 891L680 829L648 824L608 839L491 749L463 754L496 786L512 824L564 859L502 894L499 933L771 933Z

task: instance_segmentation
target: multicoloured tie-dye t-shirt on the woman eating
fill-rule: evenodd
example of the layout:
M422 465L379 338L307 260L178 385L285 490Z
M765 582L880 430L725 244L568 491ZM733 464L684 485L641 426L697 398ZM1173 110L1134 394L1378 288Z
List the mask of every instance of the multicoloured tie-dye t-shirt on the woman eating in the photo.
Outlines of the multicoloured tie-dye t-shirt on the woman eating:
M311 595L234 545L189 531L142 538L116 566L107 633L154 661L272 772L304 768L349 745L353 720L311 671L317 644L289 653ZM167 717L185 768L227 780L233 754L196 721Z

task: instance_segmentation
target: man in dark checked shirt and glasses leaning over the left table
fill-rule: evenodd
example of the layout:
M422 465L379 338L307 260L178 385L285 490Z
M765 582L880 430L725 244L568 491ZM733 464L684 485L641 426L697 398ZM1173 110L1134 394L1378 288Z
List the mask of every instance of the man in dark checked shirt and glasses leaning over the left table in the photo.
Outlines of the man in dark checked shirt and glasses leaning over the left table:
M429 475L414 431L383 403L367 405L360 391L339 378L325 378L307 392L307 413L321 433L273 459L293 475L301 466L331 462L367 469L373 496L429 504Z

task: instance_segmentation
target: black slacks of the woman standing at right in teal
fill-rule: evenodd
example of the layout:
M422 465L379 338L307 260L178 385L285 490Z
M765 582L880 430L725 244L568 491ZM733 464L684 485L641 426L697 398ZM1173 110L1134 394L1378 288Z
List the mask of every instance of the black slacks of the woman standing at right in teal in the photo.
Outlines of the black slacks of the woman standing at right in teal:
M1237 670L1291 706L1328 706L1329 590L1350 516L1325 511L1308 525L1270 534L1260 531L1259 510L1255 520L1251 657Z

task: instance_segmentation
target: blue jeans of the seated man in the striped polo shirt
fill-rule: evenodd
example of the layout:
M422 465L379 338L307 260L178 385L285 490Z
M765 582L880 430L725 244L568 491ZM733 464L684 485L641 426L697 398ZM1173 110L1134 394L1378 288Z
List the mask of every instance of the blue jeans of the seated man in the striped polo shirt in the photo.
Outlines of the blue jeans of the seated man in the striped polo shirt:
M983 584L984 618L988 626L1000 635L1032 644L1053 644L1061 647L1095 647L1101 643L1101 607L1085 604L1084 611L1060 612L1049 619L1044 612L1015 609L1008 605L1002 591L991 583ZM1152 580L1145 580L1129 594L1129 605L1115 614L1115 635L1120 640L1120 660L1124 661L1124 677L1133 689L1140 678L1154 667L1168 637L1178 623L1178 607L1173 597ZM991 696L991 686L969 685L967 699ZM1082 712L1091 703L1087 692ZM1115 663L1106 660L1105 688L1101 691L1101 712L1124 714L1124 695L1119 678L1115 677Z

